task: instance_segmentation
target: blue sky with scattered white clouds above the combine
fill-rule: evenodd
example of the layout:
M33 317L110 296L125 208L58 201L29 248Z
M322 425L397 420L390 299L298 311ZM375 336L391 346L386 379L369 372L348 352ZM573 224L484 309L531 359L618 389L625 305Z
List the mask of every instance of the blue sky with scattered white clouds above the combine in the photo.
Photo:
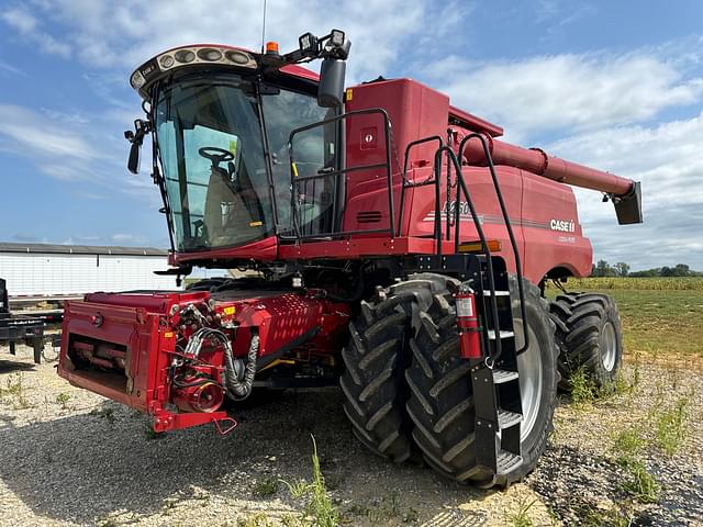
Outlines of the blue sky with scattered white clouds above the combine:
M166 247L126 172L134 67L167 47L258 48L263 0L0 1L0 240ZM349 81L412 77L506 138L643 181L645 224L579 191L596 258L703 269L703 2L269 0L267 36L347 31Z

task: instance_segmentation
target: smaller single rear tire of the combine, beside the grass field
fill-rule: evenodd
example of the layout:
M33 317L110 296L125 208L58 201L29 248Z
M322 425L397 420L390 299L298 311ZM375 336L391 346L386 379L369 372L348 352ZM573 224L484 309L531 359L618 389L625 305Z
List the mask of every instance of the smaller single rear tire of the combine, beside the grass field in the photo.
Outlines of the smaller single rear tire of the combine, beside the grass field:
M562 294L550 303L549 312L557 326L559 388L570 390L570 379L580 368L598 388L614 382L623 361L615 301L606 294Z

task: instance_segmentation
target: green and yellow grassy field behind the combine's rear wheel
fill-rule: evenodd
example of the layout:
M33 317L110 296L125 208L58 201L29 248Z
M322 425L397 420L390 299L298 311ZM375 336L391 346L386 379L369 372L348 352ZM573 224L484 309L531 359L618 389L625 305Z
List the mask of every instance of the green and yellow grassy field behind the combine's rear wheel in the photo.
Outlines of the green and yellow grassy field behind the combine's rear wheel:
M617 301L627 355L703 357L703 278L587 278L566 285ZM554 287L547 291L550 298L557 293Z

